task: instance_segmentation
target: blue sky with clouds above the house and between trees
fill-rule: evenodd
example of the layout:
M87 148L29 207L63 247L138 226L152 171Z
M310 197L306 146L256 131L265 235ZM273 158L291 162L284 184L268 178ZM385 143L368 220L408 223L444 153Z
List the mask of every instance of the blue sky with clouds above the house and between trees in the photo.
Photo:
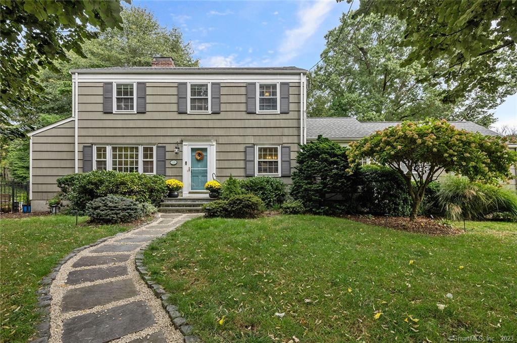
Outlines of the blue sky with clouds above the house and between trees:
M164 26L177 26L203 67L311 68L325 34L339 24L345 1L144 1ZM352 9L358 7L356 0ZM517 95L496 110L496 126L517 127Z

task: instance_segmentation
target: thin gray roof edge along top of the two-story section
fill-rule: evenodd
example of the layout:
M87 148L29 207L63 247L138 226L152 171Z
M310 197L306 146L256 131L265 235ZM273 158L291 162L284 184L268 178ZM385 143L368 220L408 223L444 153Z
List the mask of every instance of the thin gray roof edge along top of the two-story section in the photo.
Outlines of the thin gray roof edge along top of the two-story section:
M72 69L71 73L306 73L306 69L297 67L110 67Z

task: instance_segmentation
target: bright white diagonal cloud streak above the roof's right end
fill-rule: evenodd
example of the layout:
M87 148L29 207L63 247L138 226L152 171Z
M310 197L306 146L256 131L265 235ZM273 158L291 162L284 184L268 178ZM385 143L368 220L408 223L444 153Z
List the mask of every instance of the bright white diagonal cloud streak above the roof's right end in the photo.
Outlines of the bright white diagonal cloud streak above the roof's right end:
M278 49L277 64L284 64L298 56L305 43L317 31L334 5L321 1L298 11L298 26L284 32L284 39Z

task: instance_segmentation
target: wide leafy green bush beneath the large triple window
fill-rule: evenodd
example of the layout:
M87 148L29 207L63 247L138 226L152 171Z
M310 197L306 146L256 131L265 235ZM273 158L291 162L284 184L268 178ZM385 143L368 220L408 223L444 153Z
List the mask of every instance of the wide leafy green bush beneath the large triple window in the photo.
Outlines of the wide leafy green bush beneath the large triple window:
M114 170L65 175L57 179L57 185L64 199L70 201L70 209L79 213L84 212L89 201L107 195L120 195L158 206L168 193L165 180L160 175Z

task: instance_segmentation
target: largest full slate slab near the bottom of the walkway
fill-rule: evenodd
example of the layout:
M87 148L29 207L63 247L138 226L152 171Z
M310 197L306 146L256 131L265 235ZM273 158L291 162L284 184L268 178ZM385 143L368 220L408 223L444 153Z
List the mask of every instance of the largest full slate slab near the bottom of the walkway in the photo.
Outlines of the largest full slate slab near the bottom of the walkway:
M146 302L138 301L66 320L62 340L63 343L107 342L144 330L153 324L155 317Z

